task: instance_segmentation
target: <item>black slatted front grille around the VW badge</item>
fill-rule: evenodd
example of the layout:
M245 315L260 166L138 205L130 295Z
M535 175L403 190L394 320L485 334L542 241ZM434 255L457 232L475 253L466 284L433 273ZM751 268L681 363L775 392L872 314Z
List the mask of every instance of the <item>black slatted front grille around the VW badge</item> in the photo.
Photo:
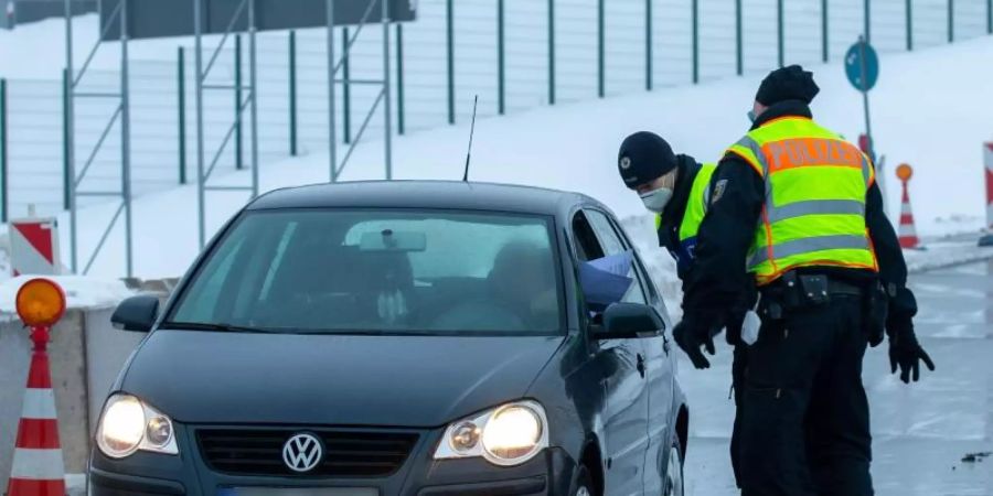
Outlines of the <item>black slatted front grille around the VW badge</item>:
M282 448L308 432L324 445L324 456L300 474L282 461ZM327 429L199 429L196 438L207 465L231 475L385 477L403 466L417 433Z

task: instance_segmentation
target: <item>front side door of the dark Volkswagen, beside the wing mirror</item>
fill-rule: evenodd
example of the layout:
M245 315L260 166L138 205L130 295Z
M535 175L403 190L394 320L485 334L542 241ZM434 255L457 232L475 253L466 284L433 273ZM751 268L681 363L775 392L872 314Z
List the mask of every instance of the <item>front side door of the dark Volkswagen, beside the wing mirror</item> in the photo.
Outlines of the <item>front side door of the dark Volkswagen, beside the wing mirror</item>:
M597 217L595 211L576 214L573 223L577 245L585 258L592 260L626 250L621 239ZM636 282L623 301L644 303ZM595 357L601 370L605 402L602 445L605 493L609 495L644 494L644 456L648 451L648 391L643 339L604 339L594 343Z

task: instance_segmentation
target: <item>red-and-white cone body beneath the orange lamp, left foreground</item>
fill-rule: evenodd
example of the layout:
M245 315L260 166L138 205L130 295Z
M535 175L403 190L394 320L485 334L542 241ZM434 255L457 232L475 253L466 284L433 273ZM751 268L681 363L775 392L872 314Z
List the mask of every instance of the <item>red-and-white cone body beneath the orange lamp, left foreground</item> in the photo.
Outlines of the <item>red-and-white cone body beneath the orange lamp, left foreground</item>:
M34 327L31 341L34 353L7 495L65 496L65 462L49 368L49 327Z

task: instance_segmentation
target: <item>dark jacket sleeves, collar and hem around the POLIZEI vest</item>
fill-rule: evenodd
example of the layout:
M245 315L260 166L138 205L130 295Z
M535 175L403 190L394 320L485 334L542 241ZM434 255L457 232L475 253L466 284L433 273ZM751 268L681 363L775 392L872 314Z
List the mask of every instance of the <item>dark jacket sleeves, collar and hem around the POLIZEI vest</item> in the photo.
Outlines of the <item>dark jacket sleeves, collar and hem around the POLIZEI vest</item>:
M762 112L751 129L784 116L812 117L810 107L802 101L782 101ZM759 222L765 203L765 182L744 159L734 153L725 154L714 173L712 185L725 181L718 197L712 194L707 215L700 227L696 241L696 261L693 272L683 283L683 310L723 314L755 284L745 271L744 260L755 239L755 226ZM896 231L883 212L883 195L877 184L866 193L866 226L879 261L879 273L861 269L815 267L802 272L825 273L854 283L866 283L877 278L890 292L890 315L910 317L917 313L914 294L906 288L907 265L900 250Z

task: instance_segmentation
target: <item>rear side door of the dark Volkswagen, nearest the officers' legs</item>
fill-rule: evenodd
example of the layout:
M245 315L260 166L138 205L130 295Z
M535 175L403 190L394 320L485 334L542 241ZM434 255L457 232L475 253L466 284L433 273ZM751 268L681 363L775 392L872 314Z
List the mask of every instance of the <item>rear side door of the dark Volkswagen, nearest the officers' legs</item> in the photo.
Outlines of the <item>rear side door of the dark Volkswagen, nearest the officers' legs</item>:
M615 218L607 214L599 222L609 222L624 244L626 249L634 252L633 276L641 285L644 295L651 306L669 323L669 315L661 294L651 281L648 271L644 270L633 244ZM594 217L592 215L590 216ZM671 432L675 418L673 417L673 380L675 373L675 356L673 345L665 335L666 330L660 330L655 337L640 339L644 345L645 366L648 369L648 439L649 446L645 454L644 493L661 494L665 474L665 460L671 448Z

